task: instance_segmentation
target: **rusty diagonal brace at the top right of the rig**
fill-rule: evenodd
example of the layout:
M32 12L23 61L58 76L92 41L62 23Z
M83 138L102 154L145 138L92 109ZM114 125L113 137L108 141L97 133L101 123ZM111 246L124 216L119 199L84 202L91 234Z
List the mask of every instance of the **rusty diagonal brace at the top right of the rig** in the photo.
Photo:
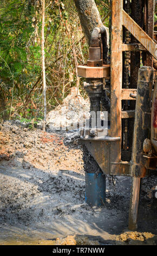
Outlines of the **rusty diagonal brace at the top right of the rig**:
M126 13L122 10L122 24L130 33L146 48L146 50L157 59L157 45L152 38Z

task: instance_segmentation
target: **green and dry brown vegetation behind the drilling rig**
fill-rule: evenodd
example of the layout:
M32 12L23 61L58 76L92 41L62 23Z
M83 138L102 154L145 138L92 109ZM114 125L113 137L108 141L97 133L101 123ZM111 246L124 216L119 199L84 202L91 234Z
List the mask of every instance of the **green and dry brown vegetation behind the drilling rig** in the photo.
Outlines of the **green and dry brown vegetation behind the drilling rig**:
M104 24L109 0L96 0ZM88 46L73 0L45 1L45 69L47 112L82 83L77 64L85 63ZM41 69L41 0L0 2L0 117L43 118Z

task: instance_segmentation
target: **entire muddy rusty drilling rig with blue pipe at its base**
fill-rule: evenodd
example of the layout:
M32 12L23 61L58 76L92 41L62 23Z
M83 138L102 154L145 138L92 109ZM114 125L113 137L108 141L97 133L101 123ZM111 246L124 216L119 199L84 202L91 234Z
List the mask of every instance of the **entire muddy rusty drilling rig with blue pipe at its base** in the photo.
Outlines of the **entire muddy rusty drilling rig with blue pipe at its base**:
M113 0L110 44L107 28L94 28L87 64L77 68L78 76L86 78L84 89L96 120L102 109L108 112L107 129L97 121L92 125L91 117L89 127L81 130L86 201L99 206L104 200L105 175L132 176L130 230L137 229L141 179L150 169L156 171L154 6L154 0Z

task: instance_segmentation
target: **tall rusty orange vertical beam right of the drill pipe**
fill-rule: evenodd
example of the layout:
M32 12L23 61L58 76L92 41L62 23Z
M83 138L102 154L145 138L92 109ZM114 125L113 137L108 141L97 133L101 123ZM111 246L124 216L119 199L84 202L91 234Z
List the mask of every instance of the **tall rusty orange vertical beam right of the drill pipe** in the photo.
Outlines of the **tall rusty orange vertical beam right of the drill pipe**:
M111 105L110 136L121 138L121 90L122 90L122 9L123 1L112 1L112 54L111 54ZM112 145L114 148L112 149ZM111 144L112 162L121 161L121 141Z

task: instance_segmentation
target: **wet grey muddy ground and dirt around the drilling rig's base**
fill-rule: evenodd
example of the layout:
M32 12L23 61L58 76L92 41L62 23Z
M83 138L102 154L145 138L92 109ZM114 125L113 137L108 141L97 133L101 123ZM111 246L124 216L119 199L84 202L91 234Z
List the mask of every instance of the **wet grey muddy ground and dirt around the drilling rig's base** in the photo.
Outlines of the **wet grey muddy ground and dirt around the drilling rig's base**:
M1 125L0 244L64 244L70 235L82 244L156 245L157 176L143 179L139 228L129 232L131 178L108 177L106 203L90 208L81 146L66 138L66 132L44 133L17 121Z

